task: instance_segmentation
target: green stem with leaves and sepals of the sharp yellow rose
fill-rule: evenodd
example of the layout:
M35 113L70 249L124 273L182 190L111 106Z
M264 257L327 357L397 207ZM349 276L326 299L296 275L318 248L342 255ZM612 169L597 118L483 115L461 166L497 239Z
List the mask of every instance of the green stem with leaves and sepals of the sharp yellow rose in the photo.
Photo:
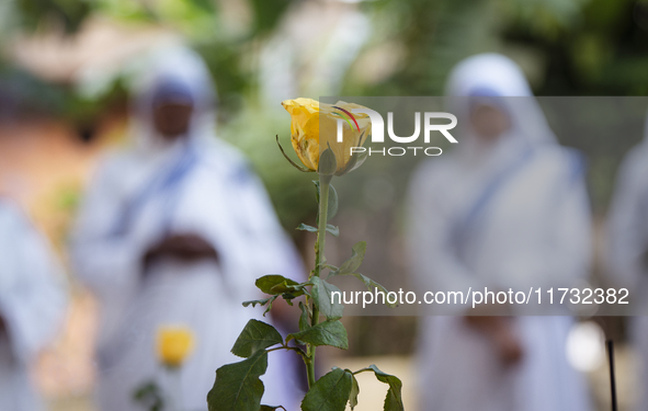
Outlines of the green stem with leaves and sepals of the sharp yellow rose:
M278 144L278 137L276 139ZM281 149L281 145L278 146ZM297 150L297 148L295 149ZM272 309L272 302L280 297L283 297L289 305L294 305L293 300L295 298L304 296L304 301L299 301L302 311L299 331L284 338L271 324L254 319L249 320L231 349L232 354L246 359L226 364L216 370L216 381L207 395L209 411L276 409L276 407L261 404L264 388L259 377L265 374L268 368L268 353L277 350L295 351L304 358L308 375L308 392L302 401L303 410L344 411L346 404L354 408L357 406L357 392L360 392L354 376L364 372L373 372L378 381L389 385L384 410L403 411L402 383L398 377L383 373L375 365L355 373L334 367L316 381L316 347L318 345L334 346L342 350L349 347L346 330L339 321L344 307L339 302L332 304L330 300L325 300L325 298L330 298L330 295L334 293L333 290L339 292L339 288L320 278L322 269L330 270L329 276L351 275L360 279L370 289L375 288L385 295L387 290L373 279L357 273L357 267L360 267L366 251L365 241L360 241L352 247L351 258L344 261L340 267L327 264L325 256L327 230L333 236L339 235L338 227L327 224L329 215L334 215L338 209L338 195L331 186L331 180L334 174L341 175L348 172L350 163L341 164L341 170L338 171L336 153L328 147L320 155L317 170L312 170L296 164L285 155L283 149L281 150L286 159L300 171L317 172L319 174L319 180L314 182L318 189L317 228L305 224L297 227L298 230L317 232L315 267L310 271L308 281L304 283L298 283L278 274L264 275L258 278L255 282L257 287L264 294L270 295L270 297L245 301L243 306L268 306L265 310L268 312ZM299 151L297 153L299 155ZM357 167L360 163L354 162L351 168ZM312 301L310 301L311 299ZM321 323L319 320L320 309L321 313L327 318ZM288 345L291 340L295 340L293 345ZM303 344L306 344L306 350L304 350Z

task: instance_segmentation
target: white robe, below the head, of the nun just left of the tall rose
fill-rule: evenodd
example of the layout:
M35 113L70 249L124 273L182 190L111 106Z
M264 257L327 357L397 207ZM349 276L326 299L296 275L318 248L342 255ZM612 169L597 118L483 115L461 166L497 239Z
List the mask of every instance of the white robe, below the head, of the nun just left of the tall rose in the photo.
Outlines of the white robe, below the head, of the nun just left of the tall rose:
M230 353L234 342L249 319L261 319L259 307L241 306L262 297L254 279L270 273L300 276L298 256L262 185L240 155L220 141L201 146L182 181L147 197L127 233L114 236L125 202L143 182L169 169L166 162L174 163L182 145L168 151L154 159L125 152L105 161L73 236L77 274L100 300L98 395L104 411L139 410L133 390L148 380L177 391L155 356L156 330L164 324L184 324L195 333L195 351L181 370L183 410L205 410L216 368L241 361ZM202 236L219 262L158 261L143 279L141 256L164 232ZM263 377L264 403L286 403L294 399L294 383L285 377L292 369L282 373L289 364L274 354Z

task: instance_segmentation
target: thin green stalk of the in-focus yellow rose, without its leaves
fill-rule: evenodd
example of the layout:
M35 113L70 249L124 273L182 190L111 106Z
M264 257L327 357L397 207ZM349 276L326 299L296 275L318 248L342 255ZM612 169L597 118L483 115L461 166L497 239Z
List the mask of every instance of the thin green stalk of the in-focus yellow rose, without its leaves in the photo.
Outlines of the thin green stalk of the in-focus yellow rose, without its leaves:
M329 208L329 185L331 183L331 175L319 176L319 214L318 214L318 230L317 230L317 242L315 243L315 276L319 277L321 273L321 266L323 263L325 244L327 238L327 214ZM311 327L319 323L319 309L316 305L312 305L312 319ZM308 345L308 362L306 363L306 372L308 374L308 387L312 387L315 384L315 345Z

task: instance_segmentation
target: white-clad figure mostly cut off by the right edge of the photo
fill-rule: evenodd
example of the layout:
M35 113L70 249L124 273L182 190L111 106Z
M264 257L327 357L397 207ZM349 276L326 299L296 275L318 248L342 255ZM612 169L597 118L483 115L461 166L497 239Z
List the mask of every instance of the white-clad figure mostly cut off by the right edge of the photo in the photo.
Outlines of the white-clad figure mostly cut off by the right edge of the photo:
M637 349L638 381L648 375L648 119L644 141L626 156L618 171L607 220L606 260L613 284L625 287L638 313L630 321ZM636 410L648 410L646 389L639 387Z

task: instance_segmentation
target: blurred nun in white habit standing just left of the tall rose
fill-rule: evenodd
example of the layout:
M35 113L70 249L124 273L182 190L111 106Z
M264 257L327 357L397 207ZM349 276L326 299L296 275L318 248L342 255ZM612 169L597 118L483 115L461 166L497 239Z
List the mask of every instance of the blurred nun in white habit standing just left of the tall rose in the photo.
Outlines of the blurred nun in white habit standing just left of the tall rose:
M259 307L241 306L261 297L254 279L299 277L300 264L258 178L214 137L215 96L202 59L171 48L148 67L135 101L135 146L101 164L72 260L100 301L101 410L141 410L133 392L150 380L182 392L182 410L206 410L216 368L241 361L234 342L261 317ZM168 324L195 334L179 391L155 354L157 330ZM289 375L281 354L270 355L263 403L292 407Z

